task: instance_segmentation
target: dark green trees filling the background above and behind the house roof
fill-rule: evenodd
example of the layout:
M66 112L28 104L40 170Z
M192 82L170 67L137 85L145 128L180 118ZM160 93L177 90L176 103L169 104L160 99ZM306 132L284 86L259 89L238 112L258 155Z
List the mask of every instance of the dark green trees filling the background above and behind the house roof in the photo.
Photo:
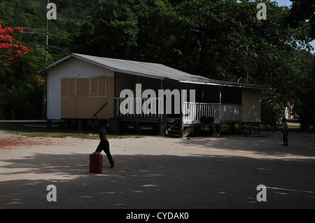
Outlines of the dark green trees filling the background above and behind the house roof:
M258 2L266 3L267 20L257 19ZM53 61L80 52L157 62L219 80L246 82L248 74L249 83L269 87L262 94L265 124L276 126L286 101L294 100L301 120L307 120L303 127L309 127L312 113L301 114L313 106L306 96L314 91L314 85L307 85L314 80L314 55L300 48L311 49L314 12L293 13L306 2L296 0L289 9L269 0L55 0L50 55ZM40 0L0 0L0 19L9 27L28 28L19 41L39 57L45 45L45 6ZM283 27L284 20L298 25ZM3 93L2 101L7 99Z

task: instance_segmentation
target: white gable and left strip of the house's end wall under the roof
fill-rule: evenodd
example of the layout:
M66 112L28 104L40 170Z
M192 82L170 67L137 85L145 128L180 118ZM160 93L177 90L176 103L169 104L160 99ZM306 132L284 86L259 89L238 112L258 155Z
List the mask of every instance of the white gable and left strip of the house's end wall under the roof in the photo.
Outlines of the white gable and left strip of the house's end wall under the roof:
M52 68L47 77L48 120L61 120L61 78L90 78L95 75L113 77L114 72L77 58Z

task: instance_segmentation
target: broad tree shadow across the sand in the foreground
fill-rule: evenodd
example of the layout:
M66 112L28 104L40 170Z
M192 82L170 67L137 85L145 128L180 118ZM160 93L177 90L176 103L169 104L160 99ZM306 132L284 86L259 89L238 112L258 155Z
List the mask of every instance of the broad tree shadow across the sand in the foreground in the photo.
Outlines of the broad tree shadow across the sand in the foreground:
M113 158L116 167L109 169L104 156L102 174L89 173L88 154L34 153L6 160L1 168L18 180L0 175L0 208L315 208L314 159ZM57 202L46 200L48 185L57 187ZM258 185L266 185L267 202L257 201Z

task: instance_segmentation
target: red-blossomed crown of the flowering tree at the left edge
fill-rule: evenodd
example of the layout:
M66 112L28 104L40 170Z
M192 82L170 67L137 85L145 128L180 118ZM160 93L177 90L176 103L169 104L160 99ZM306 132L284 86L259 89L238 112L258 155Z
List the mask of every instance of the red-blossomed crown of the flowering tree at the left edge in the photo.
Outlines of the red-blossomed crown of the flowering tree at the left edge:
M31 79L41 80L36 72L43 69L41 59L35 57L34 50L18 41L23 29L3 25L0 22L0 86Z

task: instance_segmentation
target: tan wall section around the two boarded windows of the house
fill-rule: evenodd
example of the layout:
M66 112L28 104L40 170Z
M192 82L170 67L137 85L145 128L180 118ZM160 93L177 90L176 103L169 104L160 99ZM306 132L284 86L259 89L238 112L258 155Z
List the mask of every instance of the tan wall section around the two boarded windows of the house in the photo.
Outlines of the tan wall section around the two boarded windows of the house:
M109 104L97 114L100 119L109 119L114 114L114 77L107 77L106 97L90 97L90 79L76 79L76 98L62 98L62 118L90 119L106 102ZM93 92L92 92L93 94Z

